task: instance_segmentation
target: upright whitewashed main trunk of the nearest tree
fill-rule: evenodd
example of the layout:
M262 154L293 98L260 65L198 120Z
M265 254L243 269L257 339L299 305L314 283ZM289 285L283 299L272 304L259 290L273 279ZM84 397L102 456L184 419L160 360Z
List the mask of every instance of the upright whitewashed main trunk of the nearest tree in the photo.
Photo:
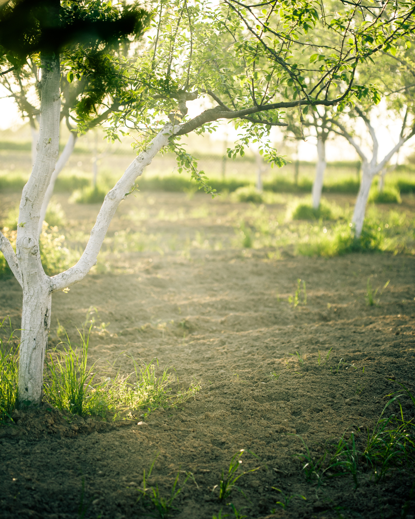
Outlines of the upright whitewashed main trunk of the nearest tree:
M19 399L38 404L50 324L50 278L40 261L40 208L59 153L59 57L41 56L40 124L36 160L23 188L19 208L16 258L22 276L23 309L19 359Z

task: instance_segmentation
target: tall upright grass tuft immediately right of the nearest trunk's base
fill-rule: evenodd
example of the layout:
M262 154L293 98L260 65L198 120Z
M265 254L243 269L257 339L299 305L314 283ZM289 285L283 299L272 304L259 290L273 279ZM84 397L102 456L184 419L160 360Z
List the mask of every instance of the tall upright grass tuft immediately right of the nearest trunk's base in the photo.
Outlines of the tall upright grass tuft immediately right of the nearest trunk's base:
M66 335L67 343L60 343L67 346L63 347L63 352L57 348L53 348L49 352L44 392L49 402L61 411L69 411L81 416L87 411L87 391L91 387L95 375L93 373L94 365L87 368L89 333L86 338L85 332L82 334L79 332L79 335L81 337L79 351L77 347L72 348Z

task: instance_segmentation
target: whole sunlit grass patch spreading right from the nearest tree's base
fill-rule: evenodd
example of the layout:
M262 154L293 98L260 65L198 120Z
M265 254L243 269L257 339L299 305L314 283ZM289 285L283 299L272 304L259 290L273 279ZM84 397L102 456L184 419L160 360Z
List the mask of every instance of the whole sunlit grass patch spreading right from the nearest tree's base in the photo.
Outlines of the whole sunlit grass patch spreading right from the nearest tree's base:
M92 328L92 322L89 331ZM49 352L44 391L54 406L72 414L100 416L103 419L146 418L158 407L177 407L199 391L199 384L188 389L176 384L175 377L165 367L160 375L158 360L148 364L136 362L128 375L118 373L114 378L99 376L94 365L87 367L89 335L79 333L80 347L73 348L70 340ZM173 390L173 386L175 386Z

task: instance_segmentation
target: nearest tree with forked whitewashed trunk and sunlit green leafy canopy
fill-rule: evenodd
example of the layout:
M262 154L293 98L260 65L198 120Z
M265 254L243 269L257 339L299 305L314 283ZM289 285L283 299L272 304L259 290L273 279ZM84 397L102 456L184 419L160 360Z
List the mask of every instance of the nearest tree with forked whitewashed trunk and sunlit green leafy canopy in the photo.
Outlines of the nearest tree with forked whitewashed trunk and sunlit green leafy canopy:
M62 5L70 4L75 2ZM107 12L114 12L109 5L103 8L98 0L89 3L85 0L84 5L93 5L94 9L95 6L101 7L105 20ZM406 6L391 11L391 16L382 20L382 24L376 19L367 26L363 26L360 11L356 9L346 17L340 10L324 15L327 30L344 33L344 38L355 34L356 42L354 47L343 42L347 50L337 49L336 58L323 57L321 61L324 64L317 69L321 74L319 83L314 89L311 86L308 89L305 77L301 75L302 69L298 62L293 63L287 46L288 50L299 52L309 45L308 33L312 32L319 18L315 9L317 4L287 1L276 14L276 2L264 4L267 6L263 15L266 18L261 19L260 24L274 39L271 47L264 45L261 31L253 34L243 11L236 7L238 5L224 1L219 6L209 7L199 0L161 0L151 14L147 45L138 46L134 58L113 56L104 51L94 53L85 45L65 51L63 66L67 67L68 78L90 78L90 90L76 107L78 129L82 131L87 127L90 114L96 106L102 105L105 93L112 85L119 95L122 111L108 117L108 137L115 140L120 132L138 130L140 138L136 148L139 154L107 193L78 263L50 278L41 268L37 227L41 203L57 156L59 61L55 49L63 45L60 34L47 39L54 42L52 52L48 46L40 49L42 78L38 153L30 180L23 190L16 254L0 234L0 250L23 287L19 391L24 400L38 402L41 398L41 370L50 322L51 294L65 290L87 275L96 262L118 204L132 192L135 179L158 152L163 148L174 151L179 172L183 168L190 170L199 186L214 195L205 175L197 170L195 159L186 152L180 139L191 131L213 131L215 121L226 119L234 120L235 126L242 129L239 141L228 150L229 156L243 155L245 145L258 142L260 153L266 160L281 166L285 161L272 147L269 132L272 126L286 124L281 120L284 111L293 107L305 110L303 105L345 106L351 102L352 95L376 97L376 88L354 85L358 63L382 48L389 49L396 38L413 28L412 11ZM388 9L390 5L388 2ZM82 12L95 20L96 14L91 13L99 10L92 11L87 7ZM61 18L57 19L65 21L66 11L62 12ZM1 14L0 11L0 20ZM120 16L122 19L122 14L123 11L121 15L118 13L117 19ZM350 29L354 20L356 23ZM356 26L357 30L354 29ZM0 25L0 34L1 30ZM280 39L276 37L277 33ZM106 41L103 37L97 39ZM0 40L3 46L7 42L7 39ZM353 53L355 48L357 52L353 56L352 48ZM316 56L314 61L320 59L319 54ZM335 80L344 87L340 97L331 95L335 92L332 85ZM288 87L295 89L295 95L293 99L282 101L287 91L284 89ZM207 95L216 105L190 119L187 103L202 95Z

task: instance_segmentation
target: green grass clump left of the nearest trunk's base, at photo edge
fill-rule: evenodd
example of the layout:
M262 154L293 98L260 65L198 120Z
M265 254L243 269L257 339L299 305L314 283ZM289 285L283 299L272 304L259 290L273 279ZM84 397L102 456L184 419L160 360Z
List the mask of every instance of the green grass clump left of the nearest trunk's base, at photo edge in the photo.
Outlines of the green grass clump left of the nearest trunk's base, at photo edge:
M2 339L5 330L5 319L0 322L0 424L4 424L11 413L19 406L19 347L15 345L17 339L11 329L7 332L6 342Z

